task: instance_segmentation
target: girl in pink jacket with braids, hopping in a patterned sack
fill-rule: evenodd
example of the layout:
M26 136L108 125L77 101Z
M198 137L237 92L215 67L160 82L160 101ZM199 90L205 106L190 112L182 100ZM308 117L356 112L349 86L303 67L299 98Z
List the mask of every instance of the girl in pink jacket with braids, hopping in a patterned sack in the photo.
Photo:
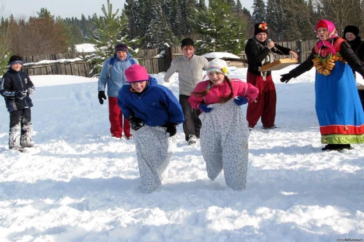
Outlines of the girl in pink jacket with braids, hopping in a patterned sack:
M227 77L227 64L210 61L209 80L197 84L188 101L199 116L201 151L207 176L214 180L224 170L226 185L245 189L248 171L248 122L241 105L254 102L258 89L240 79Z

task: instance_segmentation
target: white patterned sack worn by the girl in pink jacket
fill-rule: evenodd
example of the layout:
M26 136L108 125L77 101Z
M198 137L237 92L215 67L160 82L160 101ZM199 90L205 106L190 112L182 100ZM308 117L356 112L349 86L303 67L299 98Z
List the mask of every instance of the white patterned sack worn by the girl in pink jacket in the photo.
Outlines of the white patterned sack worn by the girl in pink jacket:
M202 121L201 151L207 176L214 180L223 169L228 187L245 189L249 128L244 112L233 99L208 107L213 110L199 116Z

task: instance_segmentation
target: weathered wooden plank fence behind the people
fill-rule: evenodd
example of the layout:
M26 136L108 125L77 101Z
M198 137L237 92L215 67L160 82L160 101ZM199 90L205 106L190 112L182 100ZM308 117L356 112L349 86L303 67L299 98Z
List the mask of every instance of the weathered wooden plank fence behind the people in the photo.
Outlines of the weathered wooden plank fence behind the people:
M316 44L316 40L305 41L283 41L276 42L278 45L290 48L297 51L299 55L299 62L302 63L311 53L312 48ZM80 52L80 53L60 53L60 54L45 54L39 56L27 56L24 59L25 63L39 62L41 60L60 60L60 59L74 59L76 57L89 56L92 52ZM160 49L148 49L139 50L138 56L135 58L139 61L139 64L145 66L148 73L157 74L162 71L167 71L171 65L171 61L174 58L182 56L180 47L169 47ZM284 58L284 55L274 54L275 58ZM234 65L236 67L247 67L246 54L242 52L240 60L226 59L228 65ZM79 75L84 77L91 77L96 73L91 73L91 64L85 60L78 61L63 61L63 62L51 62L47 64L31 64L24 65L24 71L28 75Z

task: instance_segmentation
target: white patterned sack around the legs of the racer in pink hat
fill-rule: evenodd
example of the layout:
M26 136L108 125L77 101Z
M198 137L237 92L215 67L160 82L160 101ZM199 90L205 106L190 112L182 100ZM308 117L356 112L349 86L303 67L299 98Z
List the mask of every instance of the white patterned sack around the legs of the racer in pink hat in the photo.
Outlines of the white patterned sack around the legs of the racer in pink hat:
M176 148L176 136L169 137L166 128L143 126L132 130L137 150L142 192L151 193L162 184L166 170Z

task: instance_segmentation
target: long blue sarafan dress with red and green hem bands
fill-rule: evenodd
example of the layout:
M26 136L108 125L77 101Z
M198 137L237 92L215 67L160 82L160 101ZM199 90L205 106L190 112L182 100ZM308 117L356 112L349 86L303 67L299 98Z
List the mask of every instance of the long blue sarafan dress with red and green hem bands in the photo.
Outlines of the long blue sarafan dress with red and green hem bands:
M335 63L331 66L331 73L324 73L316 67L315 108L323 144L364 143L363 107L353 71L340 54L343 42L342 38L333 42L337 51L335 55L328 54L326 48L314 48L316 60L324 60L324 66L330 61Z

